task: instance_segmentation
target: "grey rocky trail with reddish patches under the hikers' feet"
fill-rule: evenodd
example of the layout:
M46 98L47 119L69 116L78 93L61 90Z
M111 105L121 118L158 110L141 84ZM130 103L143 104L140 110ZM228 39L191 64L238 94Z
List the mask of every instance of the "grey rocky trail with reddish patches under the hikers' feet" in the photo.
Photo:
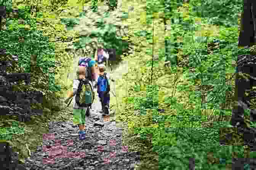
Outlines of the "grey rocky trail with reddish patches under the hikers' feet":
M86 117L86 139L79 140L78 127L69 122L51 122L49 133L25 159L27 170L133 170L139 153L122 146L122 128L99 113L99 102ZM98 109L98 110L96 110ZM72 114L72 108L65 110ZM65 113L65 114L66 114Z

